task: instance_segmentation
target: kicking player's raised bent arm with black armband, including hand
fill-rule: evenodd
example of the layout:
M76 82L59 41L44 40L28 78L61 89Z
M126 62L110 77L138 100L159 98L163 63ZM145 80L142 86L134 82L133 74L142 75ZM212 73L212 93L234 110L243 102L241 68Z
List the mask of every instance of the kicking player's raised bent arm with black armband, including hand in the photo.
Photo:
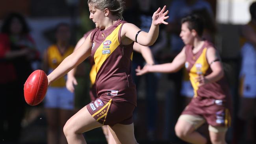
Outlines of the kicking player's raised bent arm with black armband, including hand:
M163 9L159 7L158 10L153 14L152 24L148 33L145 31L141 31L137 34L137 32L140 31L140 29L134 24L126 23L122 27L121 37L123 38L123 36L125 36L128 39L135 41L143 46L153 45L158 37L159 25L168 24L167 22L164 21L169 17L169 16L166 16L168 13L168 10L165 11L165 9L166 9L166 6L164 6ZM137 39L136 39L136 34L137 34Z

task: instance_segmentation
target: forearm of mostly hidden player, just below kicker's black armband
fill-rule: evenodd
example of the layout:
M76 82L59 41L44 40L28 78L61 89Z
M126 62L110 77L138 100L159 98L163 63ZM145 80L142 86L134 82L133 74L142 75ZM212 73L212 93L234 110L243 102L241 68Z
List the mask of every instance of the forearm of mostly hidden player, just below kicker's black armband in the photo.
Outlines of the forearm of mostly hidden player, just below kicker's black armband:
M154 65L154 57L152 52L148 46L142 46L136 42L134 42L134 50L136 52L141 53L143 58L145 59L146 63L149 65Z

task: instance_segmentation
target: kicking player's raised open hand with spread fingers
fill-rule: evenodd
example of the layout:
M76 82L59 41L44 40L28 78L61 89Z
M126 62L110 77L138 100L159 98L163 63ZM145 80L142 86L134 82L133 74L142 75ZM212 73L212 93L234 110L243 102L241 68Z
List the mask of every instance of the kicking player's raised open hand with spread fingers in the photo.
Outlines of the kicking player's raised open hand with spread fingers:
M154 12L154 14L152 16L152 23L154 25L157 26L157 25L160 25L160 24L168 24L168 22L165 22L164 20L169 18L169 16L166 16L169 11L168 10L165 11L165 9L166 9L166 6L164 6L162 10L159 7L158 10L156 10L156 12Z

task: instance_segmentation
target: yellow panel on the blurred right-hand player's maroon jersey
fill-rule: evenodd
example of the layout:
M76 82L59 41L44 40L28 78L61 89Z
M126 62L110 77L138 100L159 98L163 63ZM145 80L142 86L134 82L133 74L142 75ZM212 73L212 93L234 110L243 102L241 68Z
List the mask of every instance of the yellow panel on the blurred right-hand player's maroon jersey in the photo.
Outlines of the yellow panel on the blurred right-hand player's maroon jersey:
M207 59L206 59L206 50L207 48L204 48L204 50L202 51L202 54L198 57L197 61L195 62L195 64L192 66L192 68L190 69L190 72L189 72L189 79L191 81L191 84L194 88L194 93L195 93L195 97L197 96L197 90L198 90L198 85L199 83L195 82L195 78L198 77L198 68L197 66L198 65L201 65L202 67L200 68L200 72L202 72L202 75L204 75L206 73L206 71L208 70L209 68L209 64L207 62Z

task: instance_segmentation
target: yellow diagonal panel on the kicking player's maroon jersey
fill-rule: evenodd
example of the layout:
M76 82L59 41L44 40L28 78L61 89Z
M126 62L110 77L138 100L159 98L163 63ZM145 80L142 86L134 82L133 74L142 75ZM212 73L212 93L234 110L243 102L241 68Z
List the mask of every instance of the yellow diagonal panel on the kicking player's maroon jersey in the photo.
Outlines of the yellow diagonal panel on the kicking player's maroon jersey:
M100 44L100 46L96 50L94 54L96 73L98 73L98 70L100 69L104 61L106 61L106 59L112 54L112 52L114 52L114 50L120 45L119 39L118 39L118 33L121 26L122 24L117 26L117 28L115 28L115 30L113 30L112 33L108 35L108 37L106 37L106 39L102 42L102 44ZM108 40L111 41L111 44L109 44L109 48L103 48L103 43ZM105 50L110 50L110 52L102 54L103 51Z

